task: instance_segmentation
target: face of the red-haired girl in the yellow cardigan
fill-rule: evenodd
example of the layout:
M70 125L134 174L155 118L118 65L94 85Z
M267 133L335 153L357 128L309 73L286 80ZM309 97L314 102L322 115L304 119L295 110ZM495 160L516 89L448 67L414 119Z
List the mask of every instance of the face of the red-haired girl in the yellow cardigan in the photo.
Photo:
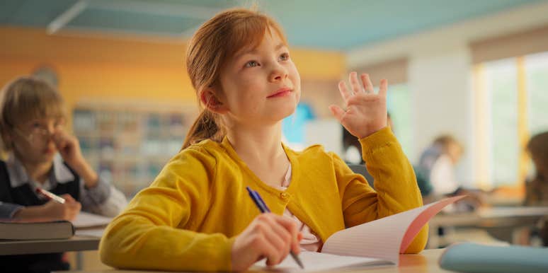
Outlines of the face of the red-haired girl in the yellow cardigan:
M220 73L219 101L238 124L275 124L299 102L299 72L282 39L275 30L270 33L258 47L236 52Z

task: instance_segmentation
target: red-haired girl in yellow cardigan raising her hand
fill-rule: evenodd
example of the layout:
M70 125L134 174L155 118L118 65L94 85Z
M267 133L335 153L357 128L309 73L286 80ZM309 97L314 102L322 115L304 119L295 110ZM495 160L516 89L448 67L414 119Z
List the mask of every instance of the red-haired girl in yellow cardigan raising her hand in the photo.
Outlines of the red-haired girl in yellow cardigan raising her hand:
M419 207L413 170L387 124L387 81L366 74L339 89L333 115L357 136L377 192L321 146L292 151L281 121L295 110L300 78L280 26L255 11L217 14L190 40L188 74L205 109L183 149L105 231L101 260L113 267L240 271L299 247L318 251L343 228ZM271 214L259 211L246 187ZM407 250L419 252L422 231Z

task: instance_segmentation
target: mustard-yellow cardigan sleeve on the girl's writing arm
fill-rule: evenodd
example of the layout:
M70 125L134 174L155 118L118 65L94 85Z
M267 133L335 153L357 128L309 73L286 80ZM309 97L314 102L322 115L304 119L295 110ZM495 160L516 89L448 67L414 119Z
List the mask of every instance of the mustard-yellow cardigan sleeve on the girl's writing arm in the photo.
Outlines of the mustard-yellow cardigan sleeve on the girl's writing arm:
M234 238L185 229L207 213L214 179L214 158L181 152L108 225L101 260L124 269L229 271Z

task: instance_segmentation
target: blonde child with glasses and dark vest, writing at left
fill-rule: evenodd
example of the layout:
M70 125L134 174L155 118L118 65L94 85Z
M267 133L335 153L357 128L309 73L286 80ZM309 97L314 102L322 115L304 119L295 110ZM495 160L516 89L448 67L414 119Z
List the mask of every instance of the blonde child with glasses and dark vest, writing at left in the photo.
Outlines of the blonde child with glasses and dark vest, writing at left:
M80 209L115 216L127 204L86 162L76 138L65 132L65 120L61 96L44 81L21 77L1 91L0 132L8 159L0 161L0 219L73 220ZM48 201L37 188L66 202ZM62 253L4 255L0 265L6 272L68 269Z

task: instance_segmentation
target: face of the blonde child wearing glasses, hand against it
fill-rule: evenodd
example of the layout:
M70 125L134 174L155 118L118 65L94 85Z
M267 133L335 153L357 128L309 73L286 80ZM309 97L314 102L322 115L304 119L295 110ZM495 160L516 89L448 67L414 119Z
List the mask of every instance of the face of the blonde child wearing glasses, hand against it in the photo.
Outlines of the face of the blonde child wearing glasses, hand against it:
M57 153L52 135L63 127L64 119L53 117L17 124L11 130L13 152L21 161L31 163L52 161Z

